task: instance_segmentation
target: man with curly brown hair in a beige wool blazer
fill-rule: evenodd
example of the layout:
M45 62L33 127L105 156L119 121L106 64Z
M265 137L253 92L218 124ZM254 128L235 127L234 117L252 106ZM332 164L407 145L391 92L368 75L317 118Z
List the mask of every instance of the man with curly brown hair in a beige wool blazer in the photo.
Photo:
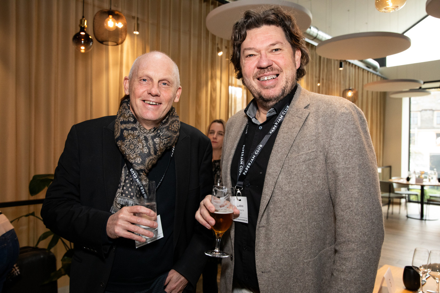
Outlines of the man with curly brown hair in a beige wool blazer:
M293 16L246 11L231 62L253 95L226 125L223 182L235 186L220 292L372 292L384 237L376 156L362 111L297 81L309 61ZM196 219L215 223L209 196Z

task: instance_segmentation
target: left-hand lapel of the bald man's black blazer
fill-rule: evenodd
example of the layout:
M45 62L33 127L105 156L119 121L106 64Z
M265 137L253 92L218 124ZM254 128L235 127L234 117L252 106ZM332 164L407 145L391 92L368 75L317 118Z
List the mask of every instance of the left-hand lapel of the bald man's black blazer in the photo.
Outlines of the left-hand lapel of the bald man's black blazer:
M114 190L117 190L121 180L122 167L122 156L114 142L114 122L112 122L103 128L103 177L106 206L109 211L115 197Z

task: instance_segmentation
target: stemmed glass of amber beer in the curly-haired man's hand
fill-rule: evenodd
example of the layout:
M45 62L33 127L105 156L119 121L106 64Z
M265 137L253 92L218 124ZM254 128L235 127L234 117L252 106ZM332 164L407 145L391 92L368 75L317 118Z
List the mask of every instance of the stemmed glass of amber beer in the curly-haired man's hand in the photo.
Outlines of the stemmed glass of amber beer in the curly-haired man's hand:
M220 251L220 240L224 232L231 227L234 206L231 203L231 198L234 196L234 188L221 185L213 186L213 194L211 195L211 203L215 206L214 213L209 212L216 223L213 231L216 233L216 248L214 250L205 251L206 255L210 257L229 257L230 254Z

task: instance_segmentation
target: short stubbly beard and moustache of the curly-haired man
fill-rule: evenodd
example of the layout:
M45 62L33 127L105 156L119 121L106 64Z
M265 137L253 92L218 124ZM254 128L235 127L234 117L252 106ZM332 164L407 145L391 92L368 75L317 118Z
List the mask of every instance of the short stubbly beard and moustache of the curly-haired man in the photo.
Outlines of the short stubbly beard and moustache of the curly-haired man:
M253 75L253 80L257 80L257 76L264 75L266 72L278 72L277 74L282 73L282 69L274 67L268 67L262 70L259 70ZM296 85L296 77L297 77L297 71L294 70L293 74L290 76L287 76L286 82L282 84L281 89L279 92L266 94L265 96L262 94L262 91L257 89L252 85L252 83L249 81L249 83L245 80L245 78L242 79L243 85L250 91L252 96L257 100L257 102L264 108L264 109L271 109L276 103L281 101L284 97L286 97L287 94L289 94L293 88ZM277 76L278 78L278 76Z

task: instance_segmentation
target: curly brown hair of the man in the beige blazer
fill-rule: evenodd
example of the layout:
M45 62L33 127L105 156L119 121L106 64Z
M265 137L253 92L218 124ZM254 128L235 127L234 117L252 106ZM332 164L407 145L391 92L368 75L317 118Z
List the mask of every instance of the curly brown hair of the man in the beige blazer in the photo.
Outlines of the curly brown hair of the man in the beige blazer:
M234 65L235 77L243 78L242 67L240 65L240 50L242 43L246 39L246 32L250 29L258 29L263 25L276 25L280 27L292 47L293 54L296 50L301 51L301 65L297 69L297 80L305 75L305 65L310 61L310 55L305 44L304 35L299 29L293 15L281 7L275 6L264 11L250 9L245 11L243 17L235 22L232 28L231 62Z

